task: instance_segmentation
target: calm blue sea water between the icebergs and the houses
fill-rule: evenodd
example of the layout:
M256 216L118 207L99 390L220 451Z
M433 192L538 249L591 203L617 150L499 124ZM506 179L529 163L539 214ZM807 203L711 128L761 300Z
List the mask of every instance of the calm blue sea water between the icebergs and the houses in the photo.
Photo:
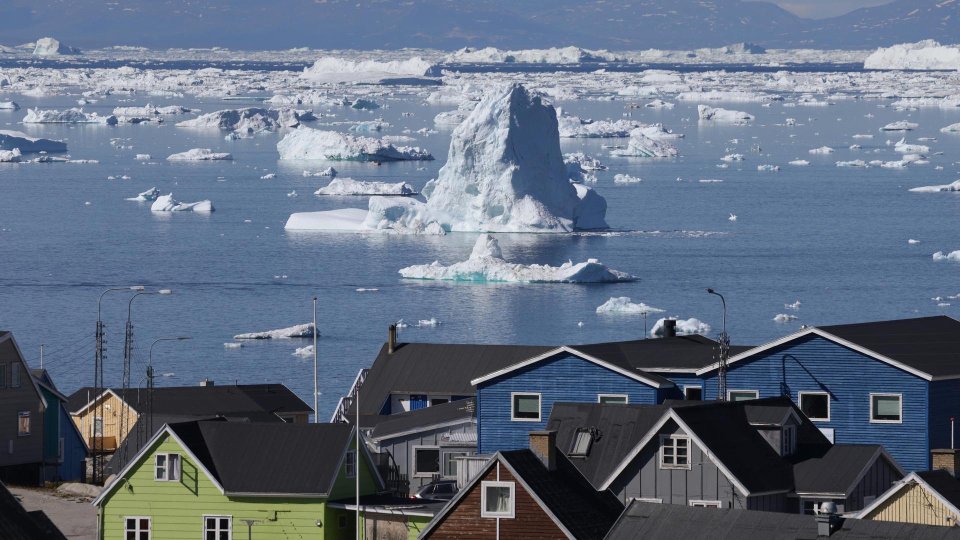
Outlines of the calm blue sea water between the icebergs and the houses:
M21 107L65 108L78 96L11 96ZM134 99L110 96L86 110L115 106L179 104L204 112L254 104L215 99ZM373 113L331 110L336 120L383 117L399 135L404 128L433 127L437 112L412 96L383 98L390 108ZM321 417L326 418L358 369L371 364L398 319L411 324L401 340L471 343L577 344L633 339L643 333L639 315L598 314L611 297L629 296L697 317L720 331L719 299L727 297L728 331L734 344L760 344L802 324L825 325L877 319L955 314L960 301L937 307L930 299L960 293L954 262L934 262L936 251L960 249L960 194L908 193L909 187L948 184L957 177L958 135L939 129L960 121L960 110L898 112L878 108L886 101L840 101L835 107L785 108L782 104L714 104L756 115L749 127L696 121L696 103L673 110L634 110L633 118L662 122L683 133L676 160L612 158L605 144L627 139L562 139L564 152L583 150L610 166L597 173L596 189L609 203L614 235L499 234L506 258L560 264L599 258L642 279L612 284L521 284L420 282L399 278L404 266L468 257L476 234L443 237L286 232L291 212L366 207L364 197L320 197L323 178L304 178L304 169L329 162L277 160L280 135L226 141L225 133L176 128L182 118L156 125L21 125L25 110L0 110L0 128L67 139L74 159L99 164L0 164L0 328L15 333L31 365L38 367L45 344L46 367L60 389L72 392L92 382L97 297L109 286L167 287L171 296L133 301L136 355L132 385L143 376L150 343L161 336L192 336L161 342L154 349L157 373L175 377L157 385L283 382L310 400L312 358L291 356L307 339L247 341L226 349L231 336L284 328L312 320L318 297ZM593 118L619 118L623 102L559 102L564 110ZM323 111L323 110L320 110ZM412 111L414 116L401 116ZM874 117L867 117L874 114ZM192 117L192 116L187 116ZM786 127L787 117L800 126ZM897 160L878 128L900 119L920 124L906 134L934 152L927 165L906 169L837 167L837 160ZM322 127L322 126L317 126ZM343 130L345 127L336 129ZM444 164L449 128L419 137L435 161L332 163L358 180L405 181L418 188ZM852 138L854 134L876 135ZM796 135L796 136L790 136ZM110 138L129 139L118 150ZM740 142L730 142L732 139ZM861 150L848 147L857 143ZM751 151L759 145L759 153ZM830 155L810 155L823 145ZM174 163L169 154L190 148L230 152L234 160ZM876 151L876 153L875 153ZM151 154L156 164L134 160ZM726 154L747 160L717 168ZM795 159L807 166L787 165ZM780 165L758 172L758 164ZM943 166L936 170L935 166ZM418 170L425 167L425 170ZM276 172L275 180L260 180ZM613 175L639 176L642 183L614 185ZM122 176L129 180L121 180ZM108 176L115 177L108 180ZM701 183L717 179L722 183ZM153 213L149 203L124 201L149 187L176 199L213 201L212 214ZM299 196L287 193L296 189ZM91 203L89 206L85 202ZM730 213L739 216L729 221ZM908 238L921 240L908 244ZM281 276L281 278L275 278ZM282 277L285 276L285 277ZM357 292L357 288L376 288ZM126 292L104 300L108 323L108 380L121 375ZM801 301L796 311L783 305ZM796 321L773 321L791 313ZM436 327L418 328L436 318ZM582 322L583 326L578 326ZM651 317L651 327L655 317Z

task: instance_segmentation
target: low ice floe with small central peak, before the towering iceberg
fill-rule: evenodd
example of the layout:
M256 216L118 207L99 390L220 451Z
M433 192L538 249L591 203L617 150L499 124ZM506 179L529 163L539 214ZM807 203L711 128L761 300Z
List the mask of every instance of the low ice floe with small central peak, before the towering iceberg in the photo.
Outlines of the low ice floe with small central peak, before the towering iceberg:
M500 246L490 234L481 234L470 258L449 266L434 261L399 270L404 278L415 280L449 280L457 282L531 282L531 283L595 283L636 282L638 277L608 268L595 258L560 266L518 264L503 258Z

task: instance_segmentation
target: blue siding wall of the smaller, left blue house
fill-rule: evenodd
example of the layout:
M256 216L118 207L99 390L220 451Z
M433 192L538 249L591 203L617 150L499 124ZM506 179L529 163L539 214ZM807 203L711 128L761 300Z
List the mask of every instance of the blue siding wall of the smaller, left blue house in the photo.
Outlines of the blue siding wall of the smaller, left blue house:
M540 393L540 422L515 422L511 392ZM657 390L579 356L556 356L488 380L477 388L480 454L529 446L528 432L542 430L554 402L596 403L598 394L627 394L631 404L656 404Z

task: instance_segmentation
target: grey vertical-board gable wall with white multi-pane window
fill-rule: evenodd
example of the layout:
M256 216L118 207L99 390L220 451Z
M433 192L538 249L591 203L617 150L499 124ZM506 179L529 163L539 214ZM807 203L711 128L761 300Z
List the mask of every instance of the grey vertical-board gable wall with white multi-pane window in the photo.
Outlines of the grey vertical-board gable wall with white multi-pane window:
M690 441L690 463L684 469L660 469L660 435L684 434L667 423L646 448L615 479L611 490L621 501L662 499L664 504L688 504L690 500L720 501L726 508L744 508L746 500L731 485L699 446Z

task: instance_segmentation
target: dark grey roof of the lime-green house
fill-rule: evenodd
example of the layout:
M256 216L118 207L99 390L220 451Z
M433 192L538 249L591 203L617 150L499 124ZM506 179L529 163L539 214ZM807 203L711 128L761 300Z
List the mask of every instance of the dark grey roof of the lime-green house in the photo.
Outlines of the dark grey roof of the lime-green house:
M201 420L170 425L224 490L325 496L353 427Z

